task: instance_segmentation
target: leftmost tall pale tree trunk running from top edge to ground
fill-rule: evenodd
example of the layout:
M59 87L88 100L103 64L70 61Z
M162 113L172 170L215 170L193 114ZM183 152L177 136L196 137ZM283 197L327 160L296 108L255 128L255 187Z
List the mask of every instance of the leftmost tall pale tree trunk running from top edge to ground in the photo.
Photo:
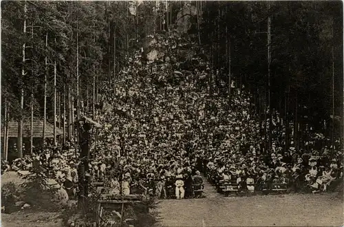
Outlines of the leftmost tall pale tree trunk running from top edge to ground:
M26 1L24 1L24 23L23 23L23 34L25 36L26 34L26 12L27 12L27 6ZM24 80L25 77L25 42L23 43L23 66L21 69L21 80ZM24 88L23 85L21 85L21 110L19 114L19 122L18 122L18 138L17 138L17 149L18 149L18 155L19 158L23 158L23 114L24 114Z

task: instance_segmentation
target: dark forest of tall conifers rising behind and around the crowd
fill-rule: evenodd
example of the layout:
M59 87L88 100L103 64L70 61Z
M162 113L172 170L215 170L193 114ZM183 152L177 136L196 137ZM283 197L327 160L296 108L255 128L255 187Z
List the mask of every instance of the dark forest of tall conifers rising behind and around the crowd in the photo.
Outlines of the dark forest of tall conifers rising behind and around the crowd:
M71 140L72 122L80 111L94 116L103 84L116 84L131 54L149 53L151 35L176 31L197 45L209 80L223 87L210 94L230 98L235 83L250 91L261 122L279 111L298 129L294 136L313 127L333 142L343 138L342 4L2 1L1 137L8 122L18 122L18 157L23 122L43 121L43 141L46 122L54 125L54 144ZM183 60L180 69L192 69L187 54Z

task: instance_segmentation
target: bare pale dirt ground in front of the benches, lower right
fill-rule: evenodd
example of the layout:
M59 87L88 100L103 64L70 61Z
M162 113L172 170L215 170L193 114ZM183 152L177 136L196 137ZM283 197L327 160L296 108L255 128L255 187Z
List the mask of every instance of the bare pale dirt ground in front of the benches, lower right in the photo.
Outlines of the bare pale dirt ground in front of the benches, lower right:
M223 197L206 186L205 199L159 204L159 226L343 226L336 194Z

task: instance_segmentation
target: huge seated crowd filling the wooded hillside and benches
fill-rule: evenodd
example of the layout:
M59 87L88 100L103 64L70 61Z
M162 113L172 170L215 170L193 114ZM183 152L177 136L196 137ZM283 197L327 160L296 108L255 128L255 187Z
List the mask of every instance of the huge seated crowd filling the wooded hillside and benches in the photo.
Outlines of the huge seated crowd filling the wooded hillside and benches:
M186 43L173 34L155 36L150 47L164 54L143 62L142 52L136 52L115 87L103 85L94 116L103 129L96 152L91 151L87 174L92 182L104 182L104 193L193 197L204 187L200 172L209 180L240 177L239 182L249 182L242 188L249 190L284 177L295 191L305 186L326 191L343 176L338 141L334 151L312 146L313 141L324 140L315 133L306 151L297 150L292 141L282 144L286 131L278 114L272 124L282 124L281 130L273 131L277 136L272 138L272 148L262 150L264 139L250 94L235 86L230 101L217 93L220 89L210 94L210 87L217 85L209 83L211 69L206 61L196 57L197 65L188 72L173 62L178 59L178 47ZM75 149L69 145L51 155L56 180L77 182ZM22 169L23 162L27 159L12 165Z

